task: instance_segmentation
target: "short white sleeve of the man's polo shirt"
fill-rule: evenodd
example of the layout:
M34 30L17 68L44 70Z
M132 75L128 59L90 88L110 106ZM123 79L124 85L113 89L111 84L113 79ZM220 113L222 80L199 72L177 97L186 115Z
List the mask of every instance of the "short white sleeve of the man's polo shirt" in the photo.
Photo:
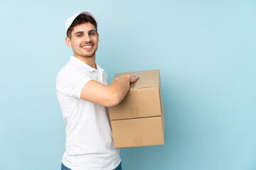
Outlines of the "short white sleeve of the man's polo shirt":
M58 73L56 90L65 95L80 98L83 86L90 80L92 78L86 72L77 69L63 69Z

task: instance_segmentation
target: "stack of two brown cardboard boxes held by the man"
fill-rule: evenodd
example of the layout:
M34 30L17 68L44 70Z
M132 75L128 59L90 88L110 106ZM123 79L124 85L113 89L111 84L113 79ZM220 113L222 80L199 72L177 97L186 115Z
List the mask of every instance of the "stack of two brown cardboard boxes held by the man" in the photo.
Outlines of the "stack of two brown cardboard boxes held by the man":
M110 108L110 120L115 148L164 145L164 105L159 69L135 74L139 79L123 101ZM113 79L113 81L114 81Z

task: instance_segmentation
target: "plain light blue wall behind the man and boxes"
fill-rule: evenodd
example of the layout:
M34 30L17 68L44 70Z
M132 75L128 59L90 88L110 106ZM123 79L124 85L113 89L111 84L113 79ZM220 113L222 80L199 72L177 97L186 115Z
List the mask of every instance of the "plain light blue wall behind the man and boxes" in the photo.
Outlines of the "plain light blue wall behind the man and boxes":
M160 69L165 145L121 149L124 170L256 169L256 1L0 1L0 169L60 169L55 78L65 19L99 19L97 63Z

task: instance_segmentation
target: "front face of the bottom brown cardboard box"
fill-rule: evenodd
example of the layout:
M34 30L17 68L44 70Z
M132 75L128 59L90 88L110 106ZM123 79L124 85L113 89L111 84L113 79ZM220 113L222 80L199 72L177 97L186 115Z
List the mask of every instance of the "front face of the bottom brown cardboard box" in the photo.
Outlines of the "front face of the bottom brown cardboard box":
M164 145L161 116L112 120L114 147Z

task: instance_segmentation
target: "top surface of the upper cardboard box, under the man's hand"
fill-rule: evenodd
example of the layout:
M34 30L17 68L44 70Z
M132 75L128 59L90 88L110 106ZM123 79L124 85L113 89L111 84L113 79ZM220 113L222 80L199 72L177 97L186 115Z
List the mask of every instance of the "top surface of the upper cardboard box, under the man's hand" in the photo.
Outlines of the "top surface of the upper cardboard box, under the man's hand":
M133 84L131 84L131 89L141 89L146 87L159 86L159 69L114 74L114 79L121 77L124 74L139 76L139 79L135 81Z

